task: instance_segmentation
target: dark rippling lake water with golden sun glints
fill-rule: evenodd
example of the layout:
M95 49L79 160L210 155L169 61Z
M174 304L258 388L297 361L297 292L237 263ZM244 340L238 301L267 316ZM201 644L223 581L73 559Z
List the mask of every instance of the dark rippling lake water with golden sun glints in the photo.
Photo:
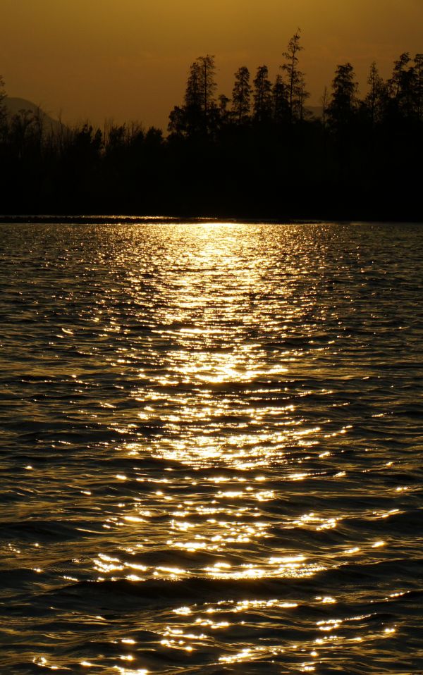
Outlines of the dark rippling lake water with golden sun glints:
M2 674L423 672L422 244L0 225Z

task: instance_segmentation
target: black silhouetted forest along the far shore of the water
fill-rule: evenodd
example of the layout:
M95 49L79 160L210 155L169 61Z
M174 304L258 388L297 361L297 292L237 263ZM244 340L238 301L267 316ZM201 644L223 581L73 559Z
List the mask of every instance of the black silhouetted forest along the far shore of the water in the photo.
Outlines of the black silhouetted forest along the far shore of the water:
M422 220L423 54L401 54L387 80L372 63L362 97L338 65L313 116L301 51L298 30L276 79L241 66L231 97L200 56L166 136L8 116L0 78L1 211Z

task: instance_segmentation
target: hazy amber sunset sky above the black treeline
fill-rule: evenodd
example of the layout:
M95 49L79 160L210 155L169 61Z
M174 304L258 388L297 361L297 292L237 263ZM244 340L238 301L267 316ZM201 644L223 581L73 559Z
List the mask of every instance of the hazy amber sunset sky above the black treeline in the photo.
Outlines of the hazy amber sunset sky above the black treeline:
M423 52L423 0L0 0L0 75L11 97L67 123L137 120L166 129L190 63L216 57L218 94L233 73L269 67L302 30L300 68L319 105L338 63L360 91L376 61L385 77L403 51Z

